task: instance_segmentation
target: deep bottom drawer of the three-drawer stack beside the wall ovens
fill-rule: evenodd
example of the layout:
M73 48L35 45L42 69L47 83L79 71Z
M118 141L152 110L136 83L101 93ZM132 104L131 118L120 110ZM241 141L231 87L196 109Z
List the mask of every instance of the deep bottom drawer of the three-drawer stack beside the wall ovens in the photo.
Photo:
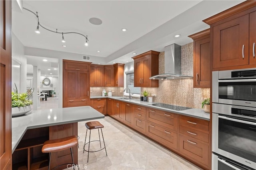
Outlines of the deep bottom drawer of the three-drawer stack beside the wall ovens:
M206 166L209 165L208 145L200 143L195 138L179 135L179 151L196 162L203 163Z

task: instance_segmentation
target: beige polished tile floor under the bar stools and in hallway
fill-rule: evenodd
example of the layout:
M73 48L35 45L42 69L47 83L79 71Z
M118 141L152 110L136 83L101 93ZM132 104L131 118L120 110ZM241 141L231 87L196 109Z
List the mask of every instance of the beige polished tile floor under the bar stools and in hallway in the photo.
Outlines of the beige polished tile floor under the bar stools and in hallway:
M58 97L48 98L47 101L41 101L40 104L40 109L57 108ZM106 116L104 119L96 121L104 125L102 131L108 156L106 156L105 150L90 152L87 163L88 152L83 153L86 121L78 122L78 136L80 137L78 165L80 170L201 170L198 166L161 147L112 117ZM96 129L91 131L92 140L98 140ZM88 141L89 138L86 139L86 143ZM103 146L102 137L101 141ZM90 150L99 148L99 142L90 144ZM88 145L86 145L86 149L88 149ZM66 168L66 170L69 169Z

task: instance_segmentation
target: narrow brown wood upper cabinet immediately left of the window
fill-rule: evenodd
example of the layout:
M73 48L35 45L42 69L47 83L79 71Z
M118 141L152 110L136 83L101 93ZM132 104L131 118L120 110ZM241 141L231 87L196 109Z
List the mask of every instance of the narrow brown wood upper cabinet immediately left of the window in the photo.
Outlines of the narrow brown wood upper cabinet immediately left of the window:
M114 64L114 87L124 87L124 64Z

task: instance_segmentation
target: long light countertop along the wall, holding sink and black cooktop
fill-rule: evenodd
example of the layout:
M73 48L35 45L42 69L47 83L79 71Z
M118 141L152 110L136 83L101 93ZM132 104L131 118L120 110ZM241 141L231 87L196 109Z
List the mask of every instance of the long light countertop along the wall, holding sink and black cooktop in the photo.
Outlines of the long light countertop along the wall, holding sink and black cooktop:
M157 107L157 106L150 105L150 104L155 104L154 102L143 102L138 99L123 100L123 99L118 99L121 97L116 97L116 96L91 96L90 98L91 99L110 98L110 99L114 99L114 100L120 100L123 102L128 102L128 103L137 104L137 105L146 106L146 107L152 107L152 108L156 108L156 109L159 109L162 111L170 111L172 113L177 113L180 115L185 115L185 116L190 116L190 117L195 117L198 119L204 119L204 120L210 121L210 114L205 113L202 109L191 108L191 109L187 109L187 110L177 111L177 110L172 110L172 109L167 109L167 108L163 108L163 107Z

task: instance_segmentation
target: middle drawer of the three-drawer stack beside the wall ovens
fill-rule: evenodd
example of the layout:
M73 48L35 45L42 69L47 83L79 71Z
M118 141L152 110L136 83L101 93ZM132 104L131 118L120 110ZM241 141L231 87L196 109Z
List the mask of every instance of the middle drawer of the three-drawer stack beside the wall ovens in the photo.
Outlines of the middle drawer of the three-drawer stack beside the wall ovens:
M208 133L204 133L204 132L198 131L196 129L192 129L192 128L185 127L182 125L179 126L179 132L183 133L184 135L188 135L190 137L194 137L196 139L199 139L201 141L209 143L209 134Z

